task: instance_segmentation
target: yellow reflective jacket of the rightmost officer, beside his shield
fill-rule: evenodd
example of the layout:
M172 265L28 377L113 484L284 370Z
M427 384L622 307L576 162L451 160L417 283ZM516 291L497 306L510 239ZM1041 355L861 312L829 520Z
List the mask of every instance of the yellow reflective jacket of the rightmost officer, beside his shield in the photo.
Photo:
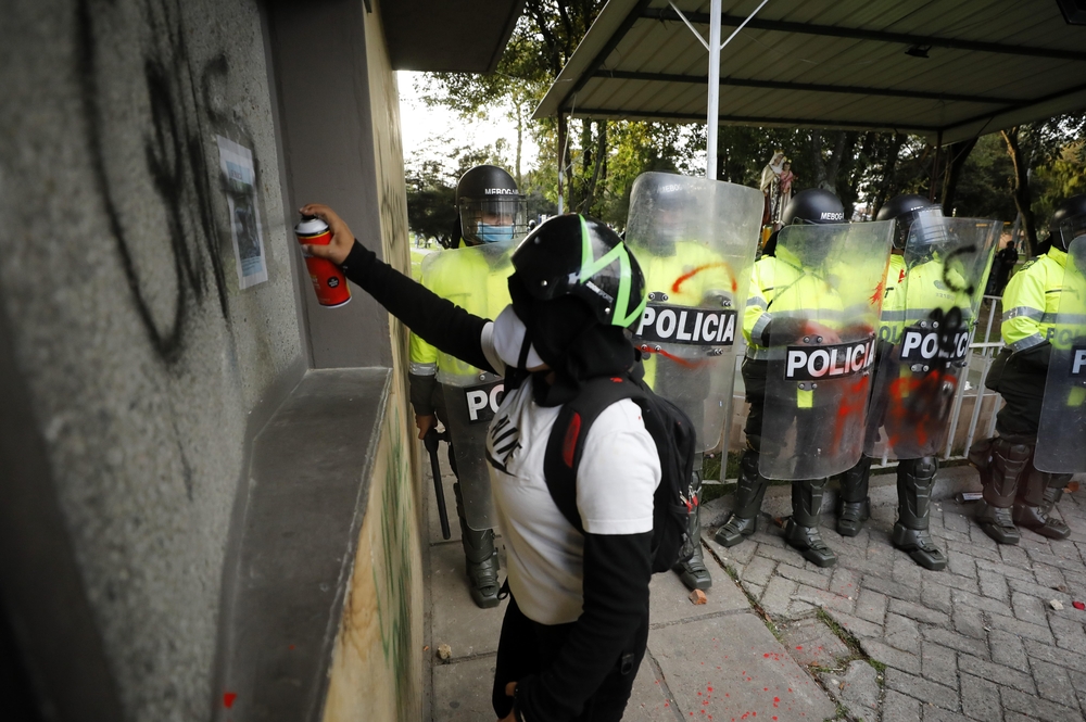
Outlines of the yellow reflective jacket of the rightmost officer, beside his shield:
M1060 309L1066 262L1066 252L1053 246L1045 255L1027 262L1007 283L999 331L1012 352L1033 349L1050 340Z

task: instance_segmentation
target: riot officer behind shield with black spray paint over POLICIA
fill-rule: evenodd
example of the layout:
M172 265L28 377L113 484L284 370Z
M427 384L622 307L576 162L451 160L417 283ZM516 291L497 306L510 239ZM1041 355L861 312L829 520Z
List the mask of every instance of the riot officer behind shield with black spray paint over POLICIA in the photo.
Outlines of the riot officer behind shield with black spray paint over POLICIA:
M891 219L897 225L884 281L864 455L842 477L837 532L855 536L870 516L868 477L884 428L885 444L898 458L892 542L920 566L938 571L947 559L929 533L935 453L945 442L957 375L968 363L969 331L997 224L945 219L937 205L911 194L880 208L876 220ZM909 343L902 344L905 337ZM921 339L931 341L931 358L919 353Z

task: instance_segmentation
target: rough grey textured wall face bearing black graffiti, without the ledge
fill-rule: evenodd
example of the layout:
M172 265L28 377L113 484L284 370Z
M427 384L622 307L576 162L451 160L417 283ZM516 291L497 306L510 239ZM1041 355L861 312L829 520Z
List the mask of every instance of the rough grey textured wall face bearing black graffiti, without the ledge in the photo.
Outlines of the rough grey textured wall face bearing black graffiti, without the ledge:
M3 15L0 313L17 377L0 383L26 393L36 483L124 715L205 719L249 420L305 366L261 13L16 0ZM256 163L269 278L248 290L216 136ZM0 461L5 477L22 463ZM5 582L25 611L33 597ZM83 651L66 650L73 666ZM58 670L34 672L48 687Z

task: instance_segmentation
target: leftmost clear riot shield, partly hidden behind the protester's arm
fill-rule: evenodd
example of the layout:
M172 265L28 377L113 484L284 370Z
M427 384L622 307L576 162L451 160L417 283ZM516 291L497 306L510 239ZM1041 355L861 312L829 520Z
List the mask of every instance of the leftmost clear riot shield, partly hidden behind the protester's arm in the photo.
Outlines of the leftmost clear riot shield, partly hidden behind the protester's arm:
M422 284L476 316L497 318L509 305L515 242L487 243L431 253L422 261ZM502 377L438 353L438 383L468 527L491 529L497 519L490 493L487 426L501 402Z

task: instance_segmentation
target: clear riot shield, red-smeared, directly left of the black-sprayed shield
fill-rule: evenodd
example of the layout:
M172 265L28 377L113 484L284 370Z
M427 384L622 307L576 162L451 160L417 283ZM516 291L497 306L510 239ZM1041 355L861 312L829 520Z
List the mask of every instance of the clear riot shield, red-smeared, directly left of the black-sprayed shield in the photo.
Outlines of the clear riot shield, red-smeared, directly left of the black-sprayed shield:
M759 471L821 479L863 451L894 221L782 228L769 313Z

